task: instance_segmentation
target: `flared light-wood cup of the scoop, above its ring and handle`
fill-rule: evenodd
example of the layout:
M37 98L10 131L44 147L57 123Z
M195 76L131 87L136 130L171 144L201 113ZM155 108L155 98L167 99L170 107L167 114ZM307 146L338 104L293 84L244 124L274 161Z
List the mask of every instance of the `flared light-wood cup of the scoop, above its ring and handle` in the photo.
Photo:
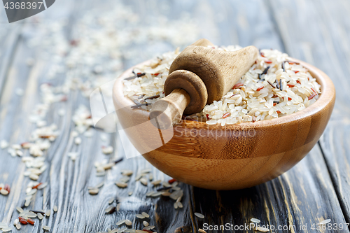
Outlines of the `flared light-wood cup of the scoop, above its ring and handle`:
M228 52L190 45L174 59L169 73L186 70L197 74L207 87L207 104L212 104L237 83L257 58L258 49L254 46Z

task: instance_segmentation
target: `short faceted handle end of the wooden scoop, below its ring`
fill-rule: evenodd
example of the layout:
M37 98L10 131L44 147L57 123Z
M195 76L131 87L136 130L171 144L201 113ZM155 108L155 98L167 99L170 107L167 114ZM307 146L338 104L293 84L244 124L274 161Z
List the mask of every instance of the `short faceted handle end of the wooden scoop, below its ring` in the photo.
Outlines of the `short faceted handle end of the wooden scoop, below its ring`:
M168 129L181 121L183 111L185 111L188 104L190 104L188 92L176 88L167 97L159 99L152 105L151 122L158 129Z

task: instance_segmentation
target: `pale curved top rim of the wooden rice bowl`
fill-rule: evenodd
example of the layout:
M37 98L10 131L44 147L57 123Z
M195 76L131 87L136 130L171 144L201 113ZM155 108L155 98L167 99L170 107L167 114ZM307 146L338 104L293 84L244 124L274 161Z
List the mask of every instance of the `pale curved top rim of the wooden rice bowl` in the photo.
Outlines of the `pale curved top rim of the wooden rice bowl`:
M318 113L318 111L321 111L325 106L328 106L332 99L335 98L335 86L332 83L332 80L320 69L316 68L315 66L308 64L307 62L303 62L299 59L295 59L293 57L288 57L288 61L290 62L298 62L302 66L304 66L306 69L308 69L309 73L312 77L316 78L317 83L321 85L321 94L318 97L318 99L314 102L314 104L311 104L307 108L304 108L302 111L298 111L296 113L292 113L290 115L284 115L281 118L274 118L271 120L258 120L256 122L241 122L238 124L232 124L232 125L225 125L221 126L220 124L215 125L208 125L206 122L197 122L193 120L182 120L178 125L186 126L186 127L194 127L194 128L203 128L206 127L209 129L217 128L217 129L253 129L253 128L260 128L260 127L269 127L272 125L279 125L279 124L285 124L288 122L293 122L296 120L300 120L302 118L309 117L311 115L314 115L315 113ZM116 82L113 85L113 99L115 101L119 102L119 105L123 107L132 106L134 105L134 102L129 99L128 97L125 97L123 92L123 80L125 78L130 77L132 73L132 69L142 66L145 64L149 64L151 62L151 59L147 60L146 62L141 62L140 64L137 64L135 66L132 66L130 69L127 69L124 71L116 80ZM121 100L121 102L120 102ZM134 108L133 111L138 111L137 114L147 114L149 116L149 111L145 111L142 109ZM136 112L135 112L136 113Z

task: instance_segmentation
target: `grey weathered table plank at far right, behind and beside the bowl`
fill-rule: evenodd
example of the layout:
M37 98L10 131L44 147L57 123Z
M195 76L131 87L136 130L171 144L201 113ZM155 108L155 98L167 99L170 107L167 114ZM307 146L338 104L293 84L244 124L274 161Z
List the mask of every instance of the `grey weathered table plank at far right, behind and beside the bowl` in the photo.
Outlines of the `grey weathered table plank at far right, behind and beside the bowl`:
M335 84L335 110L320 146L350 223L350 198L345 195L350 192L349 1L271 1L271 6L288 54L320 67Z

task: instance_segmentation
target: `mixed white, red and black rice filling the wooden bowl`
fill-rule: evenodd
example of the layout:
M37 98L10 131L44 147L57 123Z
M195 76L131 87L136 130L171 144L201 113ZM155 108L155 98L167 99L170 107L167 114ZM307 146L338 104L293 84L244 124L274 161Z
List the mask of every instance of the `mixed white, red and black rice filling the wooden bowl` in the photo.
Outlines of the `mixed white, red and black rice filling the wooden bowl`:
M239 46L213 49L235 51ZM165 97L163 87L169 67L179 49L167 52L141 66L134 73L146 73L132 80L124 80L124 94L136 103L153 104ZM314 104L321 94L320 87L302 65L288 61L286 53L278 50L260 50L255 64L241 77L221 100L203 108L201 113L190 115L192 120L202 120L209 125L255 122L290 115ZM154 96L158 95L155 98ZM147 99L151 97L151 99ZM152 105L141 106L150 110ZM188 119L188 118L186 118Z

